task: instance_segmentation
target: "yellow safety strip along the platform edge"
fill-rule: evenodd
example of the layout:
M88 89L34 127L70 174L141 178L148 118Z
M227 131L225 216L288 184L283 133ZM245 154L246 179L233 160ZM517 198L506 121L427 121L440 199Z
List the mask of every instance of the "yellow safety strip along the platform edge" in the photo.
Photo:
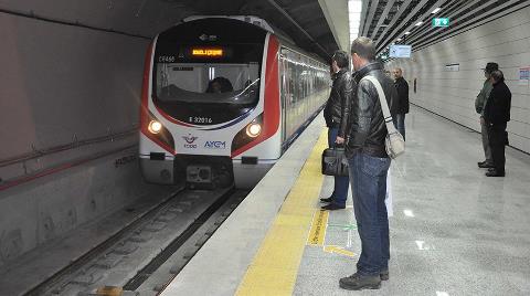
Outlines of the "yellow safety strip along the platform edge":
M322 187L320 159L326 147L327 131L322 131L248 266L236 295L293 294L315 203Z

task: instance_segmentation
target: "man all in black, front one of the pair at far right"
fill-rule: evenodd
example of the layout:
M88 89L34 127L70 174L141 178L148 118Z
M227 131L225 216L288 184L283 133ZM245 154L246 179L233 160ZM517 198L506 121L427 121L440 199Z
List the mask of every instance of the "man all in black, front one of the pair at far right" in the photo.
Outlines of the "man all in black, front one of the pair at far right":
M510 120L511 92L506 85L505 75L500 70L491 72L491 83L494 88L486 103L484 120L489 131L494 167L486 172L486 176L505 177L505 146L508 142L506 126Z

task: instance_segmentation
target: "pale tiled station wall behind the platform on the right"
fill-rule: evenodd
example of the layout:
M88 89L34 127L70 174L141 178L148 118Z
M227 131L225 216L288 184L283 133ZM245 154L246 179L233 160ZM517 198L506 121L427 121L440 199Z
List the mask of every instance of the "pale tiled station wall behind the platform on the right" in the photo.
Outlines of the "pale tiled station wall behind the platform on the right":
M530 152L530 88L519 71L530 67L530 8L413 52L412 59L389 62L400 66L410 84L411 103L480 131L475 98L484 83L486 63L496 62L512 93L510 145ZM449 65L458 64L456 66ZM416 92L414 92L416 80Z

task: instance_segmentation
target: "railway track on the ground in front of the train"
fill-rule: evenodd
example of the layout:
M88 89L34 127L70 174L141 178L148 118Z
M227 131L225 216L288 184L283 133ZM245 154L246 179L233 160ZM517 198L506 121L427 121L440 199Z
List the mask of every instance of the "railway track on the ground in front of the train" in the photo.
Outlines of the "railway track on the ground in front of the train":
M142 284L141 295L157 295L165 285L160 276L174 277L246 193L179 191L24 295L139 295L136 289ZM166 275L157 274L176 256L178 264L171 263ZM153 274L158 278L151 278ZM149 293L146 282L157 283L147 288Z

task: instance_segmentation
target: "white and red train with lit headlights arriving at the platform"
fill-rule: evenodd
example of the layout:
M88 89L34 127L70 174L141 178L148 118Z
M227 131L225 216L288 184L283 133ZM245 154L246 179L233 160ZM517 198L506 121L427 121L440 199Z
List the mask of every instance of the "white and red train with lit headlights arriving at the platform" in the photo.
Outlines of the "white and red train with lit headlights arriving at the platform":
M191 17L146 54L144 179L252 188L321 110L329 63L252 15Z

